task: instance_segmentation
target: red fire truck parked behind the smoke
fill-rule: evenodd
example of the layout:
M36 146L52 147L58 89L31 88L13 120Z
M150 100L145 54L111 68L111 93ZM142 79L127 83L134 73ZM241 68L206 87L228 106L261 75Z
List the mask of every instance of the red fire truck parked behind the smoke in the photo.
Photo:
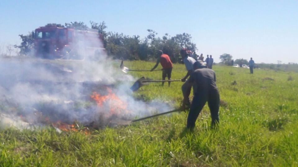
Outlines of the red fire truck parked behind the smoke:
M56 26L39 27L32 32L35 56L48 59L91 59L105 55L101 34Z

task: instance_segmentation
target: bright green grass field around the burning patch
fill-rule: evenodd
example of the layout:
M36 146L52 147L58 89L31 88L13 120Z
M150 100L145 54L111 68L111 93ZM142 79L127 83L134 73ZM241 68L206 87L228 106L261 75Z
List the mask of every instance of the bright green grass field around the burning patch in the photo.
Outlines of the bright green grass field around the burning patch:
M155 63L124 64L149 70ZM213 69L221 99L218 129L209 127L207 105L193 133L183 133L185 112L91 130L88 135L57 133L51 127L9 128L0 131L0 166L298 166L298 73L255 69L251 75L246 68ZM128 74L161 79L161 71ZM172 79L185 74L184 65L174 65ZM178 108L182 83L160 84L141 87L135 98L158 99Z

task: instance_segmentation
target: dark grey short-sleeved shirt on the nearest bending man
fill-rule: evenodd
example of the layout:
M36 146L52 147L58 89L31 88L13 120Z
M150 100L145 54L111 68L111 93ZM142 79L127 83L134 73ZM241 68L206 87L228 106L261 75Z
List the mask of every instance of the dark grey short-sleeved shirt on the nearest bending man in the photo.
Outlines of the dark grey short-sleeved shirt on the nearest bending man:
M216 87L215 72L209 68L196 69L189 77L189 82L196 83L196 93L208 93L213 90L218 90Z

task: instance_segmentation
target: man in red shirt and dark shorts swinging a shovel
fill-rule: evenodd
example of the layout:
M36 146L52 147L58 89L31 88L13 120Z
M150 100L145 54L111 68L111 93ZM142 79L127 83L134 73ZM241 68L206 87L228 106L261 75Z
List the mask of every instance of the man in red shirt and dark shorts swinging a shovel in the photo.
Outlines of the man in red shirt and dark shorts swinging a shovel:
M172 69L173 69L173 63L171 62L169 55L164 54L162 50L159 50L157 52L157 55L158 55L158 58L157 58L156 64L150 71L153 71L154 69L156 69L156 67L160 63L162 66L162 80L165 80L165 77L168 77L168 80L170 80ZM165 82L162 82L161 85L164 86L164 83ZM168 81L168 84L170 86L171 82Z

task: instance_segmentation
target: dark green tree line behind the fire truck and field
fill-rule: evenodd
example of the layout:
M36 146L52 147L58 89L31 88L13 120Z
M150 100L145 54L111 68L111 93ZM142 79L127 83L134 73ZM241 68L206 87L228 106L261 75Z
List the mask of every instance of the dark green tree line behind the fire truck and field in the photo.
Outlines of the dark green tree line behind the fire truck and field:
M108 57L124 60L145 60L151 61L156 59L158 50L163 50L168 54L173 62L178 61L179 51L182 48L195 52L196 44L192 42L192 36L188 33L170 36L168 33L162 37L152 29L147 29L148 35L141 38L138 35L128 36L118 32L107 32L106 23L96 23L90 21L90 28L97 29L102 36L104 48ZM73 28L76 30L86 30L89 27L84 22L70 22L62 24L47 24L45 26L57 26L62 28ZM28 35L19 35L21 38L20 45L14 45L19 49L20 55L29 56L34 48L34 39L31 32Z

